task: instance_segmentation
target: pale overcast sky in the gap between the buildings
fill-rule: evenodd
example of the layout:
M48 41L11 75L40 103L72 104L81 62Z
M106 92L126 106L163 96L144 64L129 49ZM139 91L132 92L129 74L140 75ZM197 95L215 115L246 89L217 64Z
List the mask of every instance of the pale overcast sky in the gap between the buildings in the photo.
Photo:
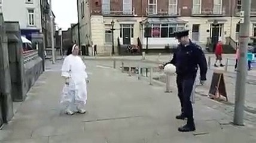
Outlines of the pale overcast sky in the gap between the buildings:
M55 23L66 30L71 23L77 23L77 0L51 0Z

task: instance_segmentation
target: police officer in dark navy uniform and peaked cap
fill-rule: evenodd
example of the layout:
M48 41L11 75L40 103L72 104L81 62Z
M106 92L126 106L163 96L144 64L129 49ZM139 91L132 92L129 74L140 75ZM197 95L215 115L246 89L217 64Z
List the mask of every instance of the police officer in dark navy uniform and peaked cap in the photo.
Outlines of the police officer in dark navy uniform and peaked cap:
M176 48L170 62L160 65L163 68L166 64L176 66L176 84L178 86L178 97L181 102L181 114L176 119L184 120L187 124L178 128L179 132L190 132L196 130L193 119L193 108L190 101L194 81L197 75L198 66L200 67L201 84L206 80L207 63L202 48L188 38L189 30L175 32L175 38L179 45Z

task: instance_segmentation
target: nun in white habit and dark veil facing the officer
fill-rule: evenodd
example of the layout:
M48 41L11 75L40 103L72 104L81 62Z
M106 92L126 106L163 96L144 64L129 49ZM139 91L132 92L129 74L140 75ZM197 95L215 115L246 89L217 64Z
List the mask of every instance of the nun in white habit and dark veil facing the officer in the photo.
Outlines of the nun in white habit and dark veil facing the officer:
M87 100L87 79L86 65L78 56L79 48L73 45L68 50L67 57L62 65L61 76L65 79L61 104L66 105L66 114L72 115L75 112L86 113L85 105Z

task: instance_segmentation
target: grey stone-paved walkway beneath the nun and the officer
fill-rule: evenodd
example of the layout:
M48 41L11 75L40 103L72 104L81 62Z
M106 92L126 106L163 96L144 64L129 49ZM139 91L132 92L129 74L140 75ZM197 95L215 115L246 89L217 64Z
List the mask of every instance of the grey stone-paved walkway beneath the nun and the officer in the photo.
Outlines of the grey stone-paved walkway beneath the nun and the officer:
M228 124L230 116L203 105L200 98L194 105L196 132L179 133L184 121L175 119L176 90L166 94L163 86L150 86L101 64L87 62L88 113L74 116L59 114L61 63L47 66L12 122L0 130L0 142L256 142L255 128Z

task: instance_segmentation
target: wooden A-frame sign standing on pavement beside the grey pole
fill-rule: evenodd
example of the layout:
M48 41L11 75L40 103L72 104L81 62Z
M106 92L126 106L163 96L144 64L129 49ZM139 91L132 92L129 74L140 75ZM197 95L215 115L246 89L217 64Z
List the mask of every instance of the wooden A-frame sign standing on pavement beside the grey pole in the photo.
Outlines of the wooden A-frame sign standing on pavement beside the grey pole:
M225 88L224 74L221 71L215 70L212 74L212 82L209 90L209 97L219 99L221 96L227 98L227 91Z

